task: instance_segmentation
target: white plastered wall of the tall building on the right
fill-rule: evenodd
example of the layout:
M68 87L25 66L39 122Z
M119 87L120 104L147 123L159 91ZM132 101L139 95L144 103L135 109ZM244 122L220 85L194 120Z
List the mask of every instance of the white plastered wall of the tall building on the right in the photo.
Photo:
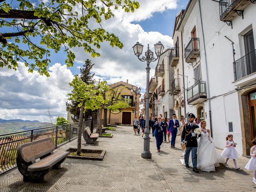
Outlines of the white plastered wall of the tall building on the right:
M249 4L244 9L244 19L236 16L232 20L233 29L225 22L220 21L219 4L214 1L200 1L202 8L202 22L204 28L204 38L206 46L206 57L209 77L208 98L211 98L212 130L215 146L224 148L225 138L228 134L234 135L234 141L238 143L236 150L242 154L242 134L240 112L238 104L238 94L234 84L233 52L231 42L225 38L227 36L234 42L236 52L235 60L244 56L244 42L242 35L253 29L254 44L256 45L256 6ZM198 1L192 1L181 26L183 32L184 48L191 37L191 31L196 26L197 37L200 40L200 61L202 81L207 82L206 62L200 21ZM195 66L196 62L193 62ZM188 87L195 81L193 67L184 63L184 74L188 76ZM256 76L256 74L255 74ZM232 92L233 91L233 92ZM231 92L231 93L229 93ZM229 94L228 94L229 93ZM186 112L196 115L197 105L188 105L186 102ZM210 128L208 101L204 102L204 110L207 114L206 122ZM233 123L233 132L229 132L228 122Z

